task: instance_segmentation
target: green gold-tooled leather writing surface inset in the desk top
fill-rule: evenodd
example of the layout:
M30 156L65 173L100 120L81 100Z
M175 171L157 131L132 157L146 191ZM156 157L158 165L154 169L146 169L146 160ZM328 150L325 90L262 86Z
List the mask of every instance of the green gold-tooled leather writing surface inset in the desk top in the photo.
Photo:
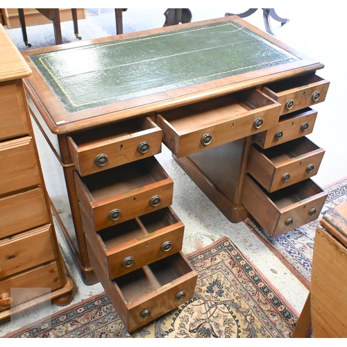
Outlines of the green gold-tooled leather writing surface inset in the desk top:
M300 60L232 20L29 58L68 113Z

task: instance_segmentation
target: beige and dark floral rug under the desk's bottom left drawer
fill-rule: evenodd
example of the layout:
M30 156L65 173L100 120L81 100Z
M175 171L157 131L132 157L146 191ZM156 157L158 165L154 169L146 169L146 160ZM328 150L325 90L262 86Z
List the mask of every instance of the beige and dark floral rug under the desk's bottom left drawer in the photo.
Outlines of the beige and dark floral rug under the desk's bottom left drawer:
M298 313L230 239L187 257L194 298L133 335L101 294L6 337L291 337Z

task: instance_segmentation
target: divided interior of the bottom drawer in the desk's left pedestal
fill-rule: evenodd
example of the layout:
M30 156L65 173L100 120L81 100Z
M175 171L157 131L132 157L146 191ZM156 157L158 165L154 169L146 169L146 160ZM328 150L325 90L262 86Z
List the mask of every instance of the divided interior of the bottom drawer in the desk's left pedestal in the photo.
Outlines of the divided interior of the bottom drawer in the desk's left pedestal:
M180 253L175 253L158 260L158 262L127 273L114 282L117 283L126 301L130 302L189 272L192 272L192 268L187 264L187 261Z

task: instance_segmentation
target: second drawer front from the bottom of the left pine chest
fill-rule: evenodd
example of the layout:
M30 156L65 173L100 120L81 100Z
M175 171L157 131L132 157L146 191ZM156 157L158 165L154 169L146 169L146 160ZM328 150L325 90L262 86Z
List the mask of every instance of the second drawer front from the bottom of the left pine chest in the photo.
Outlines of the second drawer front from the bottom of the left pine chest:
M51 262L56 258L51 224L0 241L0 278Z

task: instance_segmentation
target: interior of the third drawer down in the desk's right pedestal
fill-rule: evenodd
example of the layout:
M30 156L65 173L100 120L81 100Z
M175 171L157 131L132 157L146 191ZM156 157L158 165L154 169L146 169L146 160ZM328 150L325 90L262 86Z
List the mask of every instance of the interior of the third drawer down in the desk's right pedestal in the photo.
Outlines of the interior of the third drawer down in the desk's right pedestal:
M290 142L285 142L284 144L279 144L278 146L269 149L261 149L260 146L257 146L256 144L253 144L253 146L256 146L257 150L263 153L266 158L269 158L273 164L298 158L301 155L306 155L307 153L319 149L319 146L316 146L316 144L307 139L307 137L294 139Z

